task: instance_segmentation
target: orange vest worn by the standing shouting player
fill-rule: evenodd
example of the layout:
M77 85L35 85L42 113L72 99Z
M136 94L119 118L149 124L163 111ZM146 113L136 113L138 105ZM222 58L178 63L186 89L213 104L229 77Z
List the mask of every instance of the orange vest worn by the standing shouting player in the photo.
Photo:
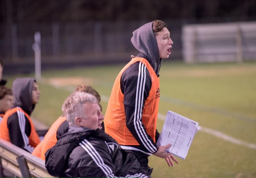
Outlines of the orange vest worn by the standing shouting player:
M152 140L156 142L156 121L158 117L157 115L160 97L159 78L156 76L155 71L146 59L136 57L125 65L125 67L116 77L104 118L105 132L113 137L120 145L139 145L129 129L126 127L124 94L120 88L122 74L130 65L137 61L142 62L146 66L152 80L149 96L145 100L145 105L142 110L142 123L144 124L146 131L151 136Z

